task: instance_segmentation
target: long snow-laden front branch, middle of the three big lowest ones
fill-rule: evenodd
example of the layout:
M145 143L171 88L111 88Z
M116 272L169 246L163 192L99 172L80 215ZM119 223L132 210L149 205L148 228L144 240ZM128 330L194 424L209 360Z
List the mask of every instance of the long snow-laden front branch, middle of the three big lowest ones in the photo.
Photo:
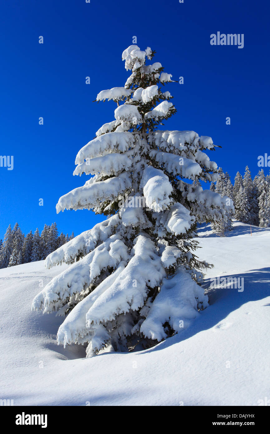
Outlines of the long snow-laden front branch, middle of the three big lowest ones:
M109 278L75 306L59 329L59 343L77 342L77 339L83 342L87 334L88 342L95 337L88 353L93 355L103 347L108 336L106 329L98 325L112 321L130 309L143 307L150 288L159 286L166 273L155 245L148 237L139 235L134 240L131 254L133 256L127 266L120 263Z

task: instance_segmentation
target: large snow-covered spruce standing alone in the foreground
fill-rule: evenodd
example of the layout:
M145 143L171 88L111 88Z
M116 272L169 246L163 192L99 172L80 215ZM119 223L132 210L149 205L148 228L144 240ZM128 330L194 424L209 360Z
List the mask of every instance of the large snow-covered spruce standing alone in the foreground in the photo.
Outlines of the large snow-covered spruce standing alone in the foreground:
M88 345L87 356L147 348L185 329L208 306L198 285L208 264L194 253L196 224L233 210L226 197L192 185L217 179L217 165L204 152L214 148L211 138L157 129L176 109L161 89L172 76L159 62L146 66L152 57L149 47L128 47L125 86L97 96L117 103L115 120L76 157L74 174L94 177L56 208L108 218L46 258L47 268L70 266L33 301L33 309L68 314L58 342Z

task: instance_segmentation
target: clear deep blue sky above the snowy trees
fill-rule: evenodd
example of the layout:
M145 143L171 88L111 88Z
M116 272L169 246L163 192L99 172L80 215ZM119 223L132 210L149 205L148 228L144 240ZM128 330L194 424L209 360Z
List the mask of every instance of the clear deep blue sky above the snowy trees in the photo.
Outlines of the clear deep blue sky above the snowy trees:
M84 184L72 175L75 156L114 120L114 102L92 101L124 85L121 54L133 36L173 79L184 77L166 86L177 113L163 128L211 136L219 166L234 178L248 165L254 176L258 155L270 155L268 18L269 3L250 0L2 2L0 155L13 155L14 168L0 167L0 238L16 221L25 233L56 221L76 235L103 220L87 210L57 215L55 204ZM243 33L244 48L211 46L218 31Z

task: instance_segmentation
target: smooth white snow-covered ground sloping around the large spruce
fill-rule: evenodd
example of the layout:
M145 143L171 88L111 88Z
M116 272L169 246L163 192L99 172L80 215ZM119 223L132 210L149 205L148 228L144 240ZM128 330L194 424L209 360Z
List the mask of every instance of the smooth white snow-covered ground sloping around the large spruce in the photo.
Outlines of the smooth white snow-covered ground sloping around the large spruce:
M34 296L64 270L45 261L0 270L0 398L14 405L258 405L270 399L270 229L234 222L229 237L199 230L201 259L213 263L210 307L185 331L136 353L85 358L63 349L63 318L31 312ZM210 279L244 278L244 290L210 289Z

